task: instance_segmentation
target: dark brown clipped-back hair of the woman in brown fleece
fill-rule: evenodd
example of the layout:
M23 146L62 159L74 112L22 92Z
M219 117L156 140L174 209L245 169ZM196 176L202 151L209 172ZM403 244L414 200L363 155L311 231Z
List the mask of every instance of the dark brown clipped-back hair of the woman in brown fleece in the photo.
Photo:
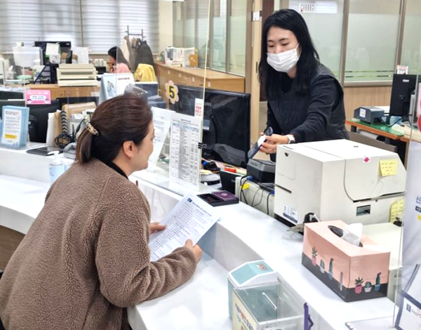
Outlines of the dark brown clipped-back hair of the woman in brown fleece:
M101 103L93 112L91 124L99 135L86 129L77 140L76 161L87 163L93 157L112 161L125 141L140 145L147 136L152 111L137 95L124 94Z

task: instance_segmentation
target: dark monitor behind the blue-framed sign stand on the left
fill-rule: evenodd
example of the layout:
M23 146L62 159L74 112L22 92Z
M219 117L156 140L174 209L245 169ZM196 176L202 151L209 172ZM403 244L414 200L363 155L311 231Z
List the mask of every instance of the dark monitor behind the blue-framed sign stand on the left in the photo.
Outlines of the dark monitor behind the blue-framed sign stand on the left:
M31 142L46 143L48 114L58 110L58 101L51 101L51 105L29 105L29 140Z

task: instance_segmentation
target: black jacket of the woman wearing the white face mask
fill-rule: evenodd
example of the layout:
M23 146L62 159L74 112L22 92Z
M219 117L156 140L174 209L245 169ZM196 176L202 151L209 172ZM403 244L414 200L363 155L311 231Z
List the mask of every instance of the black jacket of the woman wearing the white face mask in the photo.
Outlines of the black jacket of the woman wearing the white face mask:
M293 134L297 143L349 138L342 87L323 65L312 77L306 95L298 95L292 84L267 104L267 126L276 134Z

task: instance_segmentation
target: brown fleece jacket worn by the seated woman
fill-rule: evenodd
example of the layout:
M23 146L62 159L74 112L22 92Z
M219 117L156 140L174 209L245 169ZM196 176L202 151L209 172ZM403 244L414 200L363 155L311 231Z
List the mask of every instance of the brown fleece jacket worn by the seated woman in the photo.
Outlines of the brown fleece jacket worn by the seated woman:
M196 269L185 247L149 261L149 218L127 178L97 159L74 164L0 280L6 329L128 329L124 308L175 289Z

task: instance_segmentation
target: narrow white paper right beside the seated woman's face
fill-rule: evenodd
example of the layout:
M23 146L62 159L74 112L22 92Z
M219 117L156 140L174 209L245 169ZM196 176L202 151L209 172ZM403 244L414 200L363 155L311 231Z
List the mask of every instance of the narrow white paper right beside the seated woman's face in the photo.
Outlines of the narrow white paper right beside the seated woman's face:
M156 166L156 161L158 161L159 154L163 147L163 143L170 131L171 126L171 117L175 112L171 110L161 109L159 107L152 107L152 112L154 114L154 151L149 157L147 171L154 171Z

